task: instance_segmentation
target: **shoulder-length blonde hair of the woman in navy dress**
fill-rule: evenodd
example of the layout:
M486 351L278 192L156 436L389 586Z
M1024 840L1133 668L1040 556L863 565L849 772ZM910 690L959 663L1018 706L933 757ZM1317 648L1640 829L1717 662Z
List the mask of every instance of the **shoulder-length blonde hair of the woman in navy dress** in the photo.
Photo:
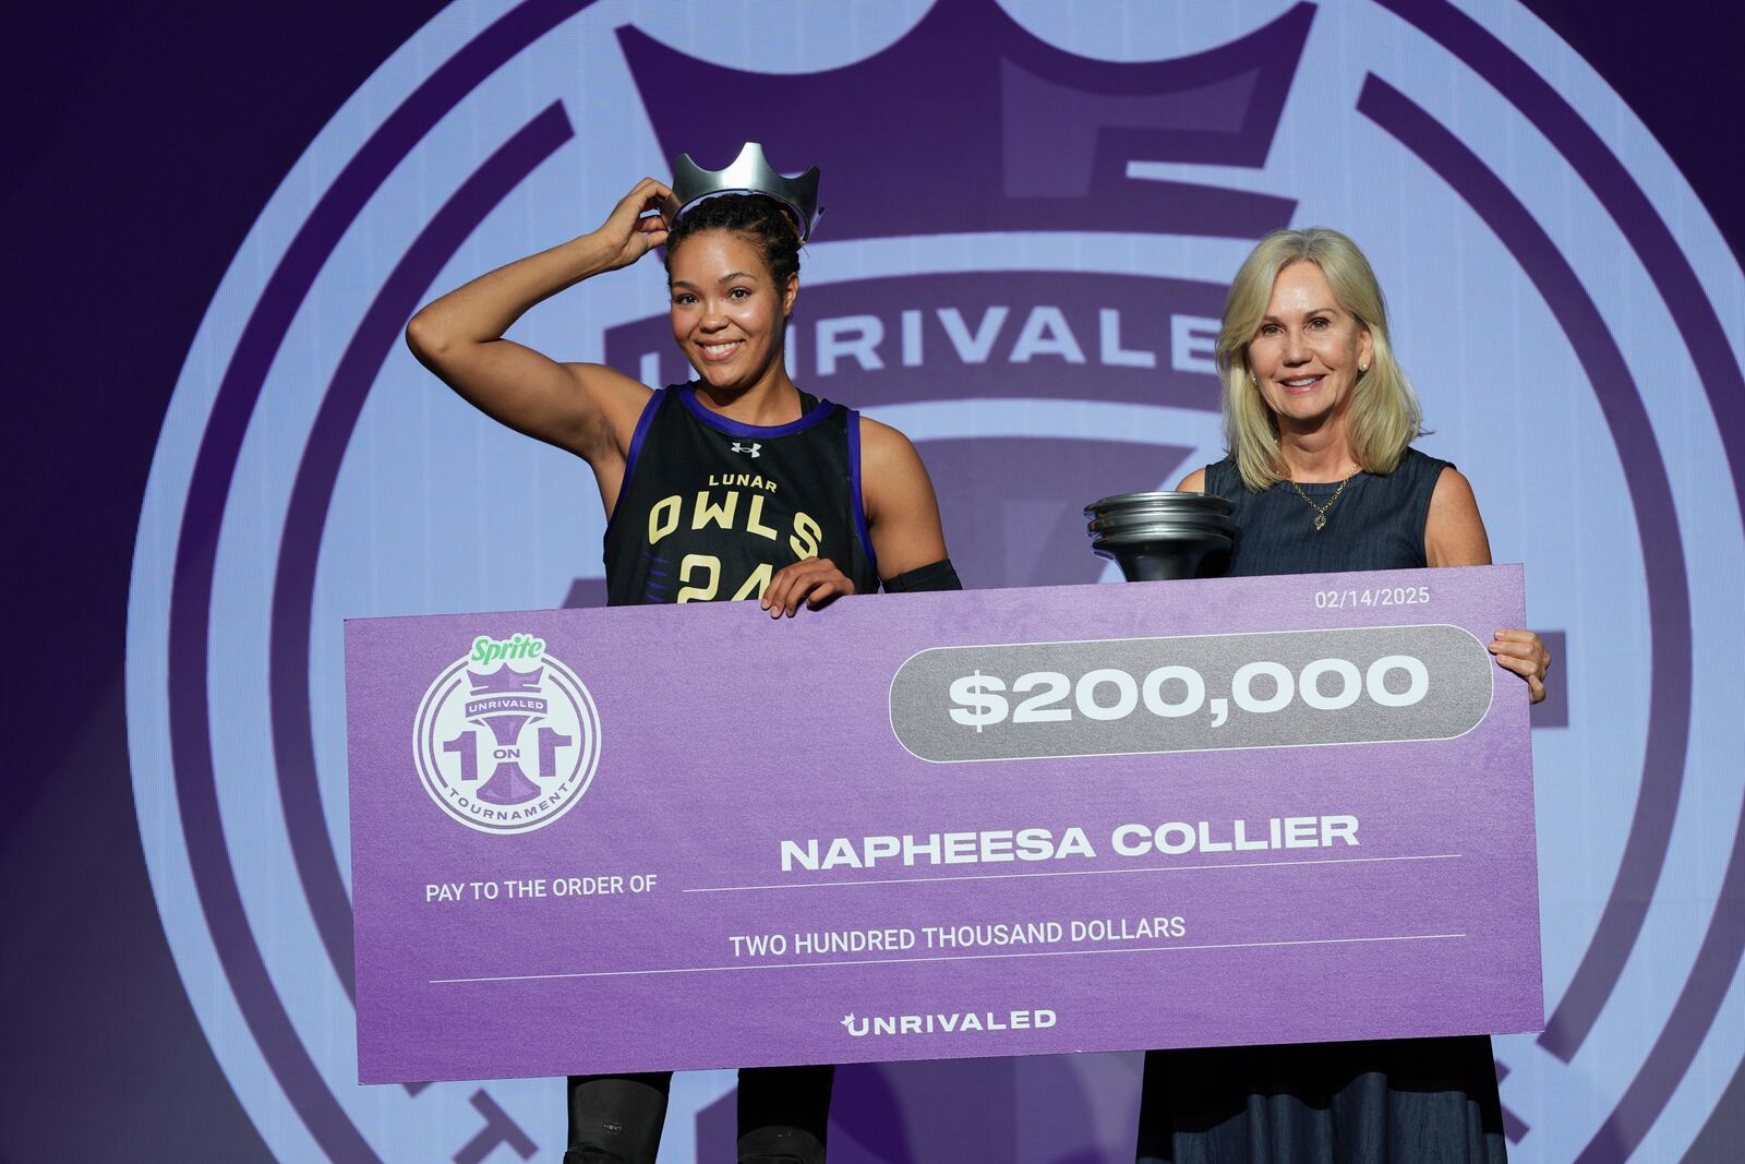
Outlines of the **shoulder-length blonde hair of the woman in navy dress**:
M1370 370L1358 377L1347 436L1351 455L1368 473L1393 473L1424 431L1412 382L1387 339L1387 304L1370 260L1338 230L1274 230L1260 239L1230 283L1218 330L1218 379L1223 382L1223 431L1242 482L1262 490L1284 480L1279 426L1248 375L1248 344L1267 316L1272 284L1295 262L1312 262L1326 276L1338 305L1370 332Z

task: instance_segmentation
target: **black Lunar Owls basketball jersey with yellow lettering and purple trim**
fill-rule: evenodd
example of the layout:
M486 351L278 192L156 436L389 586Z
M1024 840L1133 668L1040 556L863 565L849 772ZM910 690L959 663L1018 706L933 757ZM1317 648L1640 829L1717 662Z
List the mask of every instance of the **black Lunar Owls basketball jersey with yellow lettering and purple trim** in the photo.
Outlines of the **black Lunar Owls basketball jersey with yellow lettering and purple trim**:
M878 590L860 503L860 414L799 394L792 424L740 424L689 384L637 421L606 525L609 606L757 599L784 565L829 558Z

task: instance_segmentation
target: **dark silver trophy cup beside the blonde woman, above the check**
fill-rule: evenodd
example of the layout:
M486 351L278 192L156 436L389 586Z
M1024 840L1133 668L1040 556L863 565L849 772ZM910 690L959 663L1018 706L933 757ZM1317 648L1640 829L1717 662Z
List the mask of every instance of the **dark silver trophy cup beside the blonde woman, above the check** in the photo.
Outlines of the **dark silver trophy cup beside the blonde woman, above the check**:
M1091 553L1120 565L1127 581L1197 578L1230 551L1234 506L1213 494L1115 494L1085 506Z

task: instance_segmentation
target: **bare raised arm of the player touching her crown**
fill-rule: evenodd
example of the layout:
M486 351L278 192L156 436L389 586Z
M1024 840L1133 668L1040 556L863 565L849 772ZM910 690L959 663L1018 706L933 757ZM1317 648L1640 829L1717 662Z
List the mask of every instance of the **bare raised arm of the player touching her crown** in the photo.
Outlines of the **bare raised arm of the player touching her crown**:
M665 243L670 206L672 190L644 178L599 230L480 276L407 325L412 354L471 405L593 466L607 508L649 389L602 365L558 363L503 333L534 304Z

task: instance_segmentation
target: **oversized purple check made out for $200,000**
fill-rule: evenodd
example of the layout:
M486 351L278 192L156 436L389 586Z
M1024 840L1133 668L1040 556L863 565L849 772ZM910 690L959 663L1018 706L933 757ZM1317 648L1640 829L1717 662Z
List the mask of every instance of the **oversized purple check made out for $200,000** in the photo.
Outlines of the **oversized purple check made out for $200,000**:
M1518 567L346 627L363 1082L1543 1024Z

